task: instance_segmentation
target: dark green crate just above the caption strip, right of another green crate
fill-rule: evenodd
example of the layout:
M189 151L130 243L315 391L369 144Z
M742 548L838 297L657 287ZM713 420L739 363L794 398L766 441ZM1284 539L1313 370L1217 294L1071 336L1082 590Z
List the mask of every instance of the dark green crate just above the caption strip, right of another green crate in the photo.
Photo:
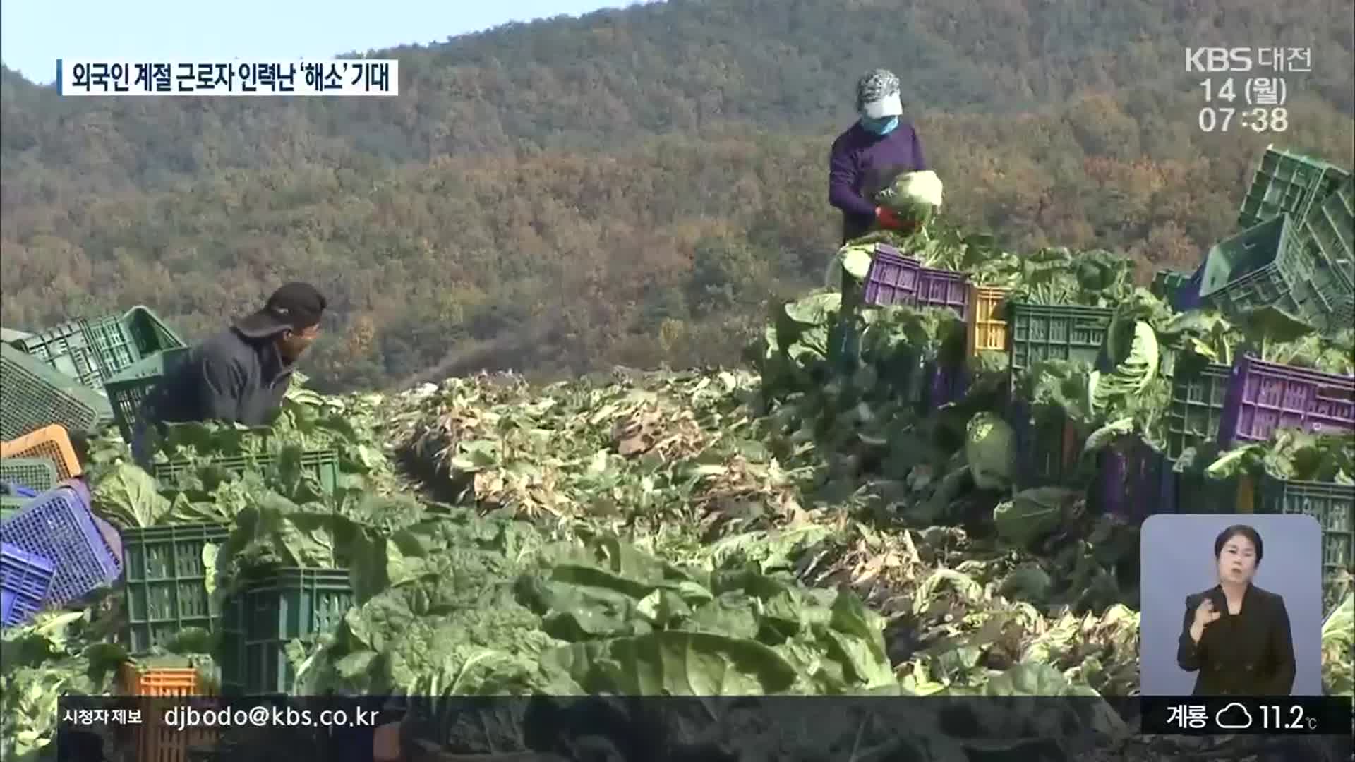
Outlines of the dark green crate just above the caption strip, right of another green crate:
M228 696L287 693L286 645L339 626L352 605L347 569L280 568L232 593L222 621L221 685Z

